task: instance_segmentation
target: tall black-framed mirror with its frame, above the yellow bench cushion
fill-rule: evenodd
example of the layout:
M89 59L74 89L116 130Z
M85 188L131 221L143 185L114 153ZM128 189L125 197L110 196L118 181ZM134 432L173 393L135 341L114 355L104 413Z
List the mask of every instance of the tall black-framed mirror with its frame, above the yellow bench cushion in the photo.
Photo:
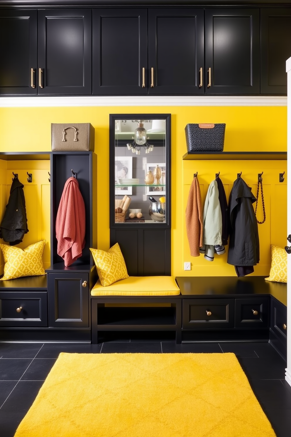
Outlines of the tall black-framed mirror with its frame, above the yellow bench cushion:
M170 227L171 114L110 114L110 227Z

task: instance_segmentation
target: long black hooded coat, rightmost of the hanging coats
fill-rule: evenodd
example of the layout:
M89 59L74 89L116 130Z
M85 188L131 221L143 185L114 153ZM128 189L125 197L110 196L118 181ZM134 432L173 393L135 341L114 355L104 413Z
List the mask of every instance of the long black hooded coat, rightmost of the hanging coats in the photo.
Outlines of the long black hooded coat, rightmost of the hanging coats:
M234 266L255 266L260 260L259 232L250 187L238 177L229 194L229 251L227 262ZM245 274L253 269L245 269ZM243 276L243 274L239 275Z

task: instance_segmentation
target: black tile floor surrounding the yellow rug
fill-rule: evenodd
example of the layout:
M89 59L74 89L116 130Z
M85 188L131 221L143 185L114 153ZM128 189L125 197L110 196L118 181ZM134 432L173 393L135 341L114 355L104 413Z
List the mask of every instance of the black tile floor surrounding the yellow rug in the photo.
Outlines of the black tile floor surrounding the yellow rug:
M34 401L60 352L94 354L233 352L240 361L277 437L291 436L291 387L284 379L287 363L269 343L177 345L175 341L127 339L99 344L0 343L1 437L14 436L18 424Z

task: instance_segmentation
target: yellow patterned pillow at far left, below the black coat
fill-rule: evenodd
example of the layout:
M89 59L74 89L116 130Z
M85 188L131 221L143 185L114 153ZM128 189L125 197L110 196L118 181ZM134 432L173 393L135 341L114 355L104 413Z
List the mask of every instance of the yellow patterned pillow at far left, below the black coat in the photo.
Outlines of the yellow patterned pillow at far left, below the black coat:
M45 274L42 264L42 253L45 248L45 240L21 249L16 246L0 244L4 258L4 276L0 281L15 279L22 276L38 276Z

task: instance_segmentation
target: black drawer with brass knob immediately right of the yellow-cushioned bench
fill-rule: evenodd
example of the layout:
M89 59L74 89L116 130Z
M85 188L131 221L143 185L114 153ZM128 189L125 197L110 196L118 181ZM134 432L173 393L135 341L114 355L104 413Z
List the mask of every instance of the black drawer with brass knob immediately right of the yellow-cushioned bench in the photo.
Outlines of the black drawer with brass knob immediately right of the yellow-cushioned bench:
M183 299L183 328L233 328L234 299Z

